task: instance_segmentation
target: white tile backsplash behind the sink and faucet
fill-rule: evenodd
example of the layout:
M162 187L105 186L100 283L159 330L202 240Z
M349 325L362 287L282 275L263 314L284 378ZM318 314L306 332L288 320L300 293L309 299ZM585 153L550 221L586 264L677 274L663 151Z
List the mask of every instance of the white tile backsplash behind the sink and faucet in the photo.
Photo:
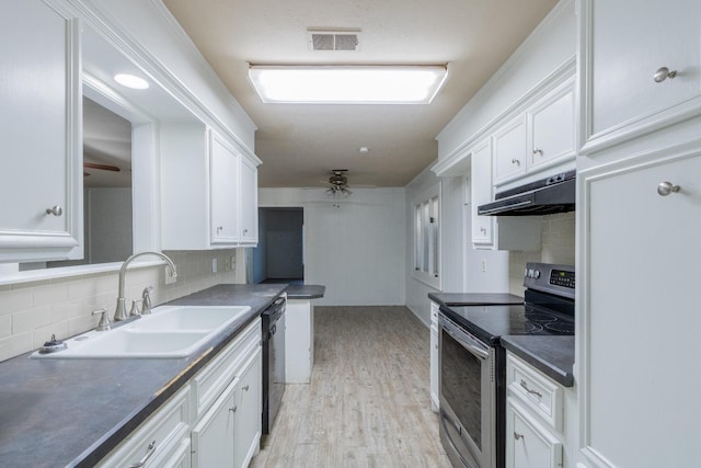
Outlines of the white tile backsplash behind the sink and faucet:
M130 269L125 278L127 309L153 286L153 305L221 283L242 283L231 259L235 250L164 252L177 266L177 281L165 284L165 266ZM217 272L212 273L212 259ZM56 334L64 339L95 328L93 310L106 307L114 313L118 272L0 286L0 361L39 347Z

